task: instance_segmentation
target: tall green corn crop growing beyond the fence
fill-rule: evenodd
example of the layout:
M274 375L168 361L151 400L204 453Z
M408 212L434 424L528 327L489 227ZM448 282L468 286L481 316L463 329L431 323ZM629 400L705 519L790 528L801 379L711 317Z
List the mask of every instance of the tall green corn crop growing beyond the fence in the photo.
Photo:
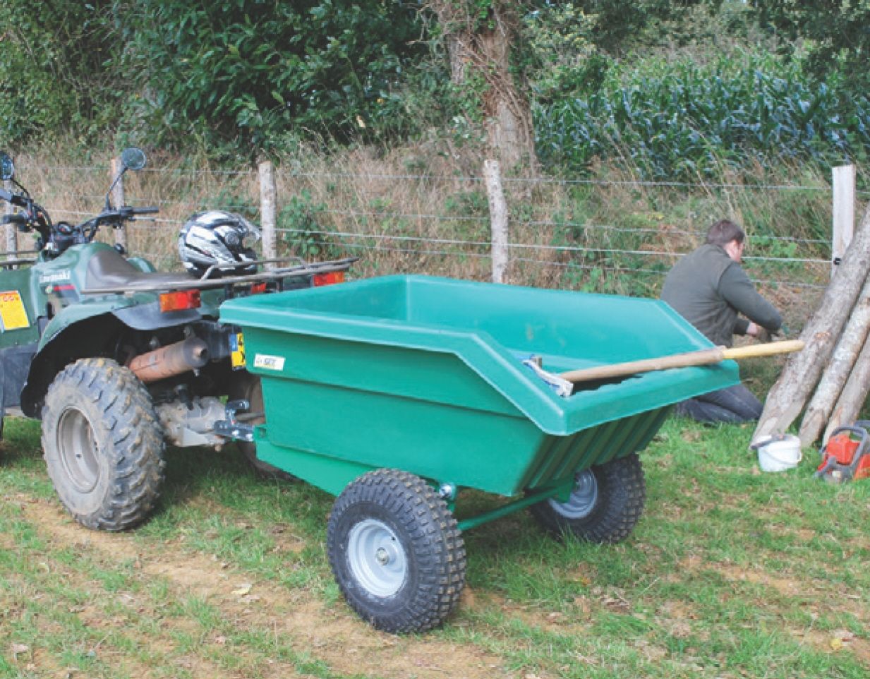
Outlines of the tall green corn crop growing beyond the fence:
M817 83L800 62L751 52L709 64L616 65L589 97L536 108L537 150L567 172L622 154L643 177L687 179L765 158L860 156L870 143L870 101L849 97L847 105L837 85Z

